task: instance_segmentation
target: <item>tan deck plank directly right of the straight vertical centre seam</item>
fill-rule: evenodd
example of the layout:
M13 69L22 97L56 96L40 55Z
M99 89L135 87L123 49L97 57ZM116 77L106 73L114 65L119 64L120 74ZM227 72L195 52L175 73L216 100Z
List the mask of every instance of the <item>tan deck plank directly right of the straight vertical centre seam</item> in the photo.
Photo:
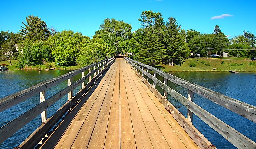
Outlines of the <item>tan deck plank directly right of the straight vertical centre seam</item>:
M121 65L122 66L122 65ZM120 148L136 148L123 70L120 70Z

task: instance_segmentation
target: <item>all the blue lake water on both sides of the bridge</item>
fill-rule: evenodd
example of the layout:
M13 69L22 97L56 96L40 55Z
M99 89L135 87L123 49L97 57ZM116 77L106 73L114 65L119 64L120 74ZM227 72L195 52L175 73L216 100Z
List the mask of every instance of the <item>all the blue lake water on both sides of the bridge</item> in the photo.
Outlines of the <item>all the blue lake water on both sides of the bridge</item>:
M36 85L47 79L51 79L62 74L68 73L70 70L51 70L38 72L37 70L10 70L0 73L0 98L21 91L33 85ZM233 74L228 72L171 72L171 74L182 79L197 83L216 92L220 92L226 96L241 100L256 106L256 73L240 73ZM74 81L81 78L81 75L74 77ZM184 96L188 96L188 90L168 82L173 89L180 92ZM46 92L47 98L60 90L67 87L67 81L50 88ZM77 92L81 87L78 87ZM67 96L60 99L50 108L48 108L48 117L51 116L58 108L67 101ZM168 99L173 105L187 116L187 109L177 100L168 96ZM234 129L246 135L253 141L256 141L256 124L250 120L243 118L233 112L214 104L213 102L194 94L194 102L206 109L208 112L221 119ZM24 102L21 102L14 107L0 112L0 127L7 124L12 119L20 114L31 109L40 103L39 95L32 97ZM25 125L22 129L16 132L12 137L0 144L0 148L13 148L18 146L25 140L36 128L41 125L41 116L38 115L33 121ZM217 148L235 148L220 134L210 128L201 119L194 115L193 125Z

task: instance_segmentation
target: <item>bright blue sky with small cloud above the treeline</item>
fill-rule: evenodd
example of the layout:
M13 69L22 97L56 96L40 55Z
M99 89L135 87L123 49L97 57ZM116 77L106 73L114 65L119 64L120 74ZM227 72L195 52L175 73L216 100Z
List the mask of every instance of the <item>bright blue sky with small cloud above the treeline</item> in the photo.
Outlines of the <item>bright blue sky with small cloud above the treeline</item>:
M230 38L249 31L256 35L256 1L2 1L0 30L18 32L28 15L35 15L48 27L58 31L72 30L92 37L105 18L123 20L132 25L132 31L140 28L141 12L160 12L165 21L177 19L182 29L195 29L201 33L212 33L215 25ZM211 19L214 17L213 19Z

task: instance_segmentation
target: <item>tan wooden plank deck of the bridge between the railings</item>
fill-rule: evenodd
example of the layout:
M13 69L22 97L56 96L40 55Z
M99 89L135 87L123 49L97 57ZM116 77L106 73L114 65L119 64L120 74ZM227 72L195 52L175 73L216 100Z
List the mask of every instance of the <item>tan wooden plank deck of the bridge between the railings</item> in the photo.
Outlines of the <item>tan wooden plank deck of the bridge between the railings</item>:
M123 59L38 148L198 148Z

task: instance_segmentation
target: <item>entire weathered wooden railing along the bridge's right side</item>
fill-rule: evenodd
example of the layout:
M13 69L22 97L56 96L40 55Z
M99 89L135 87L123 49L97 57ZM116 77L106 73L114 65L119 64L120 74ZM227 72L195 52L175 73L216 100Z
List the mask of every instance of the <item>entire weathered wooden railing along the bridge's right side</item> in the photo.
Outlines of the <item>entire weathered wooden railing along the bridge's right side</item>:
M218 104L222 107L241 115L254 123L256 123L256 107L239 100L233 99L231 97L222 95L218 92L214 92L210 89L205 87L199 86L195 83L186 81L184 79L178 78L173 76L169 73L165 73L157 68L152 66L145 65L143 63L137 62L130 58L124 57L126 62L131 65L131 67L137 72L138 76L144 81L146 85L151 89L151 91L159 96L159 92L155 89L156 84L160 86L164 90L164 96L160 97L160 102L165 108L174 116L174 118L180 123L181 126L185 126L185 121L180 120L180 117L174 114L175 109L173 105L166 99L167 94L170 94L173 98L177 99L182 105L184 105L188 109L188 121L193 122L193 114L198 116L201 120L203 120L207 125L221 134L224 138L226 138L229 142L231 142L234 146L238 148L248 148L248 149L255 149L256 143L251 139L247 138L231 126L227 125L211 113L207 112L199 105L193 102L194 93ZM151 75L149 71L153 71L154 75ZM156 75L160 75L164 78L164 81L160 81L156 78ZM146 79L144 76L146 75ZM148 83L148 78L153 80L153 86ZM188 89L188 97L182 96L180 93L173 90L171 87L168 86L167 80L178 84L186 89ZM181 114L181 113L180 113ZM183 127L184 128L184 127ZM191 136L191 138L197 143L200 144L200 139L198 137L198 133L196 131L191 132L191 130L184 128L185 131ZM200 134L199 134L200 135ZM199 146L200 147L200 146ZM200 148L208 148L207 142Z

